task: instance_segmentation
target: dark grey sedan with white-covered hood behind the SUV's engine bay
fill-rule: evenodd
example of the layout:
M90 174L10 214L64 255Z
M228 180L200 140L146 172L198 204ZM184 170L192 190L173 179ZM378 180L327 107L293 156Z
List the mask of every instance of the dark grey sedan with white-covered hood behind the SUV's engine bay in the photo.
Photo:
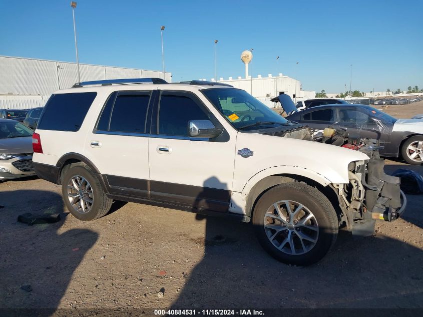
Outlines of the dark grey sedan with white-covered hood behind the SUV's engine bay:
M280 97L280 96L279 96ZM367 105L332 104L298 111L289 98L277 98L286 119L323 131L327 127L347 131L350 137L376 139L380 156L399 157L423 165L423 119L396 119ZM276 102L276 101L275 101Z

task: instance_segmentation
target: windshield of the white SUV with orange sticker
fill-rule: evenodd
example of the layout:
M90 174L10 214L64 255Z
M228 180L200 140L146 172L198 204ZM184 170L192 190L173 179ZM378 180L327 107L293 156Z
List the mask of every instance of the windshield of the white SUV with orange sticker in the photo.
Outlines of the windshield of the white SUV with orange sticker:
M236 129L289 125L288 121L246 91L236 88L212 88L202 93Z

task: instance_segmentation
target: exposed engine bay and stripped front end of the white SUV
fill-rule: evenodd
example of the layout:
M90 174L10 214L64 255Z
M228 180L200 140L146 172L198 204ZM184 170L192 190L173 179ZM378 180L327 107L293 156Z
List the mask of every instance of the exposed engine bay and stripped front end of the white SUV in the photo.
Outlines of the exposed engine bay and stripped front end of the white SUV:
M383 144L378 140L350 136L345 130L331 127L321 131L299 126L267 129L262 133L341 146L363 152L369 157L368 161L349 164L349 184L331 185L342 211L339 224L348 230L354 232L354 227L367 223L370 224L370 233L375 219L392 221L404 211L406 198L399 188L400 179L384 173L384 160L379 156Z

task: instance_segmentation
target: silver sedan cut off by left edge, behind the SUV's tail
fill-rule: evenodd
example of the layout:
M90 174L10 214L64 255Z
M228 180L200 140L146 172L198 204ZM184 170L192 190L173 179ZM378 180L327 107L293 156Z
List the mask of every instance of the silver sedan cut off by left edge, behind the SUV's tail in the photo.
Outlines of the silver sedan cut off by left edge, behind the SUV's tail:
M11 119L0 119L0 181L35 175L33 131Z

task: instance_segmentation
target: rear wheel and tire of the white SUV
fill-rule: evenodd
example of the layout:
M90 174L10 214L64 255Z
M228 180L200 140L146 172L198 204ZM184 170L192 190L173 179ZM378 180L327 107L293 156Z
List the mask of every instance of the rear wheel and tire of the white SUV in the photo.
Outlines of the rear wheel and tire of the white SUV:
M113 202L106 196L97 176L86 165L75 165L65 171L62 196L72 215L83 221L103 217Z

